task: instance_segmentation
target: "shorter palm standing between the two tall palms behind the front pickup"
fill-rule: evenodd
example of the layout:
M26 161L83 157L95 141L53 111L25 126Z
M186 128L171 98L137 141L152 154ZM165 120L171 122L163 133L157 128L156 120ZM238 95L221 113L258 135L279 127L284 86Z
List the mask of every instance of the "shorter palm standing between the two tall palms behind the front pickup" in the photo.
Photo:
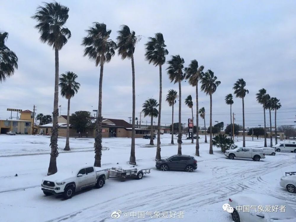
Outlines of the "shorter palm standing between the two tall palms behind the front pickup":
M67 112L67 133L66 133L66 146L64 150L70 150L69 146L69 116L70 116L70 99L78 92L80 84L76 82L78 76L73 72L66 72L59 78L59 87L61 87L61 96L68 99L68 112Z

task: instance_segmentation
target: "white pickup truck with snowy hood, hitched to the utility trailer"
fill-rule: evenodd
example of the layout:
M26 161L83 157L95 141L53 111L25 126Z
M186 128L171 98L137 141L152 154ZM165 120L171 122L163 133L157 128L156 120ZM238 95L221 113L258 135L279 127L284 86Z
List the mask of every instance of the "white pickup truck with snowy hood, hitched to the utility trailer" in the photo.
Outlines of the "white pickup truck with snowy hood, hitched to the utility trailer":
M95 186L101 188L109 178L109 169L84 166L75 170L61 170L46 176L41 183L45 195L63 194L65 199L73 196L74 192Z

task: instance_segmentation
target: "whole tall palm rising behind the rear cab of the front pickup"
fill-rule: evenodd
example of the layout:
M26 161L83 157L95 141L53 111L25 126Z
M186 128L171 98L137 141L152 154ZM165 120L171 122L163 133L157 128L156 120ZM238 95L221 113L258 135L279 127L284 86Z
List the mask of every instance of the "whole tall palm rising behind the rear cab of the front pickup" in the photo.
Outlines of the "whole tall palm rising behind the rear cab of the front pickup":
M116 43L110 39L111 30L104 23L94 22L92 27L86 30L87 36L83 38L82 45L85 46L83 56L88 56L95 62L96 67L100 65L99 79L99 105L98 117L96 119L96 137L94 139L95 156L94 166L101 167L102 157L102 88L104 63L110 62L115 55Z

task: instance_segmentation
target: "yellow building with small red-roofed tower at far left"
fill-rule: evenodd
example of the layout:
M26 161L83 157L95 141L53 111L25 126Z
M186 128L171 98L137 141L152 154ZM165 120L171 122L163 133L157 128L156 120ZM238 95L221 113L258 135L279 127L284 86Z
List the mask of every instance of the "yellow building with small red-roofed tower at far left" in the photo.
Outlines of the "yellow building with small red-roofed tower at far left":
M33 112L24 110L20 112L18 120L0 119L0 133L7 133L8 131L15 131L20 134L32 134L33 129ZM37 127L34 126L34 134L37 132Z

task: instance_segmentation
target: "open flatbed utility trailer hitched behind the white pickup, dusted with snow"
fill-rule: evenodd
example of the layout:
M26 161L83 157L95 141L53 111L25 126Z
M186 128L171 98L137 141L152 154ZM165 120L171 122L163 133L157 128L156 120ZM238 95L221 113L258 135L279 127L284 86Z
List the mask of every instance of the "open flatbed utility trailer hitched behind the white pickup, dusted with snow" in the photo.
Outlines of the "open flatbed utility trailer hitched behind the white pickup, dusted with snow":
M138 180L143 178L144 174L150 173L150 169L138 170L137 168L133 169L123 169L122 167L112 167L109 169L109 177L120 177L126 178L135 176Z

